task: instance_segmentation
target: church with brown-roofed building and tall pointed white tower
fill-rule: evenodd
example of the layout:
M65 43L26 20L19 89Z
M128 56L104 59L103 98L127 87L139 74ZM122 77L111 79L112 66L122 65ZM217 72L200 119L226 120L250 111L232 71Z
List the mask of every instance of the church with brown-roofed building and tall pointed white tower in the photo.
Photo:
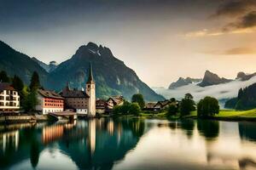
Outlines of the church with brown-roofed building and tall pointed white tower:
M85 92L76 88L71 89L67 83L67 86L62 89L61 96L65 99L65 109L73 109L78 114L96 116L96 83L91 64Z

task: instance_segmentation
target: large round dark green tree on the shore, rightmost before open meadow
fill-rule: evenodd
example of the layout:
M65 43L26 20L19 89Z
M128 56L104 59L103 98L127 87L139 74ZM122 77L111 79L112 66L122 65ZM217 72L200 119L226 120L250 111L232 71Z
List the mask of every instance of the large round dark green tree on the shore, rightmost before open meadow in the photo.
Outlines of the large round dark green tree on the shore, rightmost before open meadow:
M218 99L207 96L197 104L197 116L214 116L218 112Z

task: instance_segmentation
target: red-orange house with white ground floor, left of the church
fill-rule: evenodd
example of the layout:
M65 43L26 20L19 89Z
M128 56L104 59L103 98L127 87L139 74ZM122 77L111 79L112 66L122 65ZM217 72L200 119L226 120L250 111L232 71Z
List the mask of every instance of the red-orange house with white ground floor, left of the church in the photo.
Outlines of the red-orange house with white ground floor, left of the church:
M36 111L41 111L43 115L50 112L61 112L64 110L64 98L53 91L38 89L38 105Z

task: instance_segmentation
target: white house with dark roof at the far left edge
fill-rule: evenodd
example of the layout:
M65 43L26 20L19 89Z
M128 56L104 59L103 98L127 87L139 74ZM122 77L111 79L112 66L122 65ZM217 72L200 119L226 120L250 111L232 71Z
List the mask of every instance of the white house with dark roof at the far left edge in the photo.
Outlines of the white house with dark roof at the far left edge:
M20 109L20 95L7 82L0 82L0 113L18 112Z

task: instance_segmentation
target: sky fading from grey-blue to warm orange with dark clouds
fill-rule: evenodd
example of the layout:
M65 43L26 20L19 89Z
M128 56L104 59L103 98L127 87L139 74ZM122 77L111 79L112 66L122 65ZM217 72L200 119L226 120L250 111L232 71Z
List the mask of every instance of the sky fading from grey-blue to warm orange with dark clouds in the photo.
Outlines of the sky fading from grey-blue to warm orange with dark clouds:
M0 0L0 40L45 63L96 42L150 87L256 72L255 0Z

